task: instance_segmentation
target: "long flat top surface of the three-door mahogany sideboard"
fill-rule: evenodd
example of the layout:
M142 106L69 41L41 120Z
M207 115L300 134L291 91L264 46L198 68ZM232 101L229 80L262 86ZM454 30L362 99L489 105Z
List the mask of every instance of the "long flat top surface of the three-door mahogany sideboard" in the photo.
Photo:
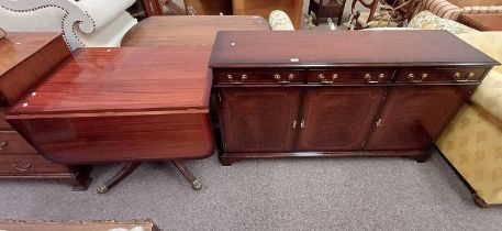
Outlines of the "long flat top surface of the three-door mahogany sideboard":
M222 31L210 67L498 64L447 31Z

